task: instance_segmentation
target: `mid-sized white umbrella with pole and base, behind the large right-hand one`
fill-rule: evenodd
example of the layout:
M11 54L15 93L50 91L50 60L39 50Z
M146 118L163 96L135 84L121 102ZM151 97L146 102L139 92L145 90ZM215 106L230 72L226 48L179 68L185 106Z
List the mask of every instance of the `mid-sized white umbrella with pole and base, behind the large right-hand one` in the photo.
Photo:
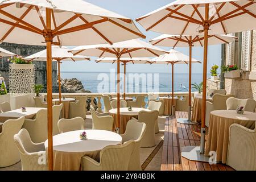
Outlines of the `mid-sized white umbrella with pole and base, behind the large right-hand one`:
M209 35L208 36L208 44L225 44L230 43L233 40L237 39L234 36L229 35ZM166 46L166 47L189 47L189 58L192 58L192 46L202 46L204 44L203 36L179 36L179 35L160 35L152 40L150 40L151 44L154 46ZM191 59L189 59L191 60ZM192 64L189 61L189 91L188 91L188 118L178 118L177 122L188 125L197 125L191 121L191 77L192 77Z

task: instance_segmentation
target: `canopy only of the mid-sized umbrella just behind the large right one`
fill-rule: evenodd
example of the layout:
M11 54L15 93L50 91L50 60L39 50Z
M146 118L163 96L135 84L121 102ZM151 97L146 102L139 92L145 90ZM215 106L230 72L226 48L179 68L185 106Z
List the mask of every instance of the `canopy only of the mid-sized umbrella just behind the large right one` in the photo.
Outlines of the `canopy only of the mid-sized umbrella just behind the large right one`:
M216 45L216 44L226 44L230 43L233 40L236 40L236 36L230 35L209 35L208 36L208 45ZM189 36L183 35L168 35L163 34L152 40L150 43L154 46L166 46L166 47L188 47L189 46ZM192 36L192 44L193 46L201 46L204 45L204 36Z

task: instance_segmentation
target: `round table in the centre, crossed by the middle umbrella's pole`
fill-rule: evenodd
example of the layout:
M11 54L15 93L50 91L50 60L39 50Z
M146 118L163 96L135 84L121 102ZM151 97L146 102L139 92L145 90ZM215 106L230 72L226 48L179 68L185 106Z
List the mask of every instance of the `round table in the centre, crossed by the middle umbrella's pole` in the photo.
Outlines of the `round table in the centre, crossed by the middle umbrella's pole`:
M120 134L124 134L126 130L127 122L130 121L131 118L138 118L138 114L140 111L151 111L149 109L143 109L143 108L137 108L133 107L132 111L128 110L128 107L122 107L120 108ZM110 115L114 118L114 128L115 130L117 128L117 109L111 109L109 110Z

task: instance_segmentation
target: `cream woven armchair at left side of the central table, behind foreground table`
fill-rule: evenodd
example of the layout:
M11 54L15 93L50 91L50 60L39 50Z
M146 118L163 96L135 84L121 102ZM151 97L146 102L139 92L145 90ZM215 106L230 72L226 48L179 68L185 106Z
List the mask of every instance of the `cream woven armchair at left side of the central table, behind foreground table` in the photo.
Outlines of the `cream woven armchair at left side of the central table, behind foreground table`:
M98 114L93 106L90 106L90 113L92 113L93 130L113 131L114 119L109 113Z

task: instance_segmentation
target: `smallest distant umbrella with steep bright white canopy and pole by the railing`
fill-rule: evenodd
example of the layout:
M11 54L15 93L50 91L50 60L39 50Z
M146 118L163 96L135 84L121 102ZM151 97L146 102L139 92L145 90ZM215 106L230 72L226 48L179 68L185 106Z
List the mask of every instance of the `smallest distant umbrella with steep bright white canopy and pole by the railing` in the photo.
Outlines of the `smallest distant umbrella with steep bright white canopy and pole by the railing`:
M174 113L174 65L175 64L189 64L189 61L191 63L201 63L200 61L196 59L190 59L189 56L184 55L183 53L176 51L175 49L171 49L170 53L164 54L160 57L156 57L155 59L152 59L154 61L153 64L171 64L172 65L172 115L175 115Z

